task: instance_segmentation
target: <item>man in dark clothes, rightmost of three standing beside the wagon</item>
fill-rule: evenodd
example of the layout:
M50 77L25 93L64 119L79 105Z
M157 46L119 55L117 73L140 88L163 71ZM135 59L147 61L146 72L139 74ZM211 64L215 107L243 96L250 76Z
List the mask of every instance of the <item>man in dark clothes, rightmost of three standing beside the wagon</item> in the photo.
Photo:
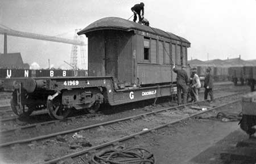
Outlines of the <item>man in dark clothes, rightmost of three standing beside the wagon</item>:
M206 72L206 76L204 79L204 100L207 100L208 97L208 93L210 96L210 102L213 102L213 92L212 92L212 88L213 88L213 77L212 75L210 75L210 67L207 68Z

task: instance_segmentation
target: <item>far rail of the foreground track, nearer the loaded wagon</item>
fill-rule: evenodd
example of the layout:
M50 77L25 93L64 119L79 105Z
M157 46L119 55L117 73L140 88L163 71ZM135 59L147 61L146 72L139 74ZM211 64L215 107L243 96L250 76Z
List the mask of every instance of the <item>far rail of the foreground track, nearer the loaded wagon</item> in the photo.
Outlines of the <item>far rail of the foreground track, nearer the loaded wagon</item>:
M236 94L241 94L241 93L227 94L227 95L225 95L225 96L216 97L216 99L224 98L224 97L228 97L228 96L234 96L234 95L236 95ZM205 101L207 101L207 100L203 100L203 101L200 101L200 102L197 102L197 103L201 103L201 102L205 102ZM64 135L64 134L67 134L67 133L77 132L77 131L81 131L81 130L88 130L88 129L90 129L90 128L105 126L105 125L108 125L108 124L117 123L117 122L122 122L122 121L125 121L125 120L134 119L134 118L141 118L141 117L145 117L146 115L151 115L151 114L160 113L160 112L163 112L163 111L168 111L168 110L175 109L175 108L177 109L177 108L179 108L179 107L184 107L184 106L188 106L188 105L193 105L194 103L195 103L195 102L187 103L187 104L180 105L180 106L167 107L167 108L164 108L164 109L160 109L160 110L156 110L156 111L151 111L151 112L149 112L149 113L144 113L144 114L129 116L129 117L126 117L126 118L121 118L121 119L110 120L110 121L108 121L108 122L97 123L97 124L93 124L93 125L90 125L90 126L85 126L85 127L76 128L76 129L73 129L73 130L67 130L67 131L62 131L62 132L51 133L51 134L49 134L49 135L38 136L38 137L32 137L32 138L30 138L30 139L11 141L11 142L7 142L7 143L0 144L0 148L5 147L5 146L14 145L14 144L24 144L24 143L29 143L29 142L35 141L35 140L47 139L47 138L49 138L49 137L54 137L54 136L58 136L58 135Z

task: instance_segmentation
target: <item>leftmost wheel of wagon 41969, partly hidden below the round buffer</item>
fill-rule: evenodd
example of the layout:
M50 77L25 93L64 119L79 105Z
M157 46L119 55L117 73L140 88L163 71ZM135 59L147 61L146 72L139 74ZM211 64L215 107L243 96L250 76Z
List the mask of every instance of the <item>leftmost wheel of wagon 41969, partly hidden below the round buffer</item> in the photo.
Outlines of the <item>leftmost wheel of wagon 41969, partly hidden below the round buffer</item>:
M24 107L24 106L21 106L22 107L22 111L23 113L22 114L19 114L18 113L18 109L19 109L19 105L18 105L18 102L17 102L17 99L16 99L16 96L15 96L15 93L13 94L13 97L11 97L11 109L13 110L13 112L20 116L20 117L27 117L27 116L30 116L31 113L33 112L34 108L31 106L31 107L28 107L27 109Z

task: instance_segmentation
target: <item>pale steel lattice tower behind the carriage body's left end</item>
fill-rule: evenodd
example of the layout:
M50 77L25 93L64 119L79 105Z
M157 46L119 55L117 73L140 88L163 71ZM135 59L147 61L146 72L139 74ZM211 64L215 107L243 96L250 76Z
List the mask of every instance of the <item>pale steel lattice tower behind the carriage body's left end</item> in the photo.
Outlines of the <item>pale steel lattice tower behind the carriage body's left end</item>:
M75 35L74 35L73 40L74 41L79 41L79 42L84 42L84 40L85 40L84 36L78 36L77 35L77 32L79 32L80 30L81 29L76 29L75 30ZM77 66L77 51L78 51L78 46L77 45L72 45L70 64L72 66L75 66L75 69L78 69L78 66ZM81 55L82 70L85 70L86 69L85 45L80 45L80 55Z

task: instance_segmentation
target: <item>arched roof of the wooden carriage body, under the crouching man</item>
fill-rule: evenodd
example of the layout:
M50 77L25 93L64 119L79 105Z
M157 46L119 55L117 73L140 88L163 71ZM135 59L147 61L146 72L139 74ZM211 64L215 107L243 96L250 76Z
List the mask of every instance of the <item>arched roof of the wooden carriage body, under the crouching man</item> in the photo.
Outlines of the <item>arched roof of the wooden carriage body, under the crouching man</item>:
M185 38L176 36L173 33L165 32L158 28L148 27L146 25L135 23L134 21L117 18L117 17L102 18L97 21L94 21L92 24L88 25L81 31L77 32L77 34L81 35L81 34L86 34L88 32L98 31L102 29L117 29L122 31L135 31L135 30L143 31L143 32L156 34L158 36L171 38L172 40L177 40L177 41L186 42L187 44L190 44L190 42Z

